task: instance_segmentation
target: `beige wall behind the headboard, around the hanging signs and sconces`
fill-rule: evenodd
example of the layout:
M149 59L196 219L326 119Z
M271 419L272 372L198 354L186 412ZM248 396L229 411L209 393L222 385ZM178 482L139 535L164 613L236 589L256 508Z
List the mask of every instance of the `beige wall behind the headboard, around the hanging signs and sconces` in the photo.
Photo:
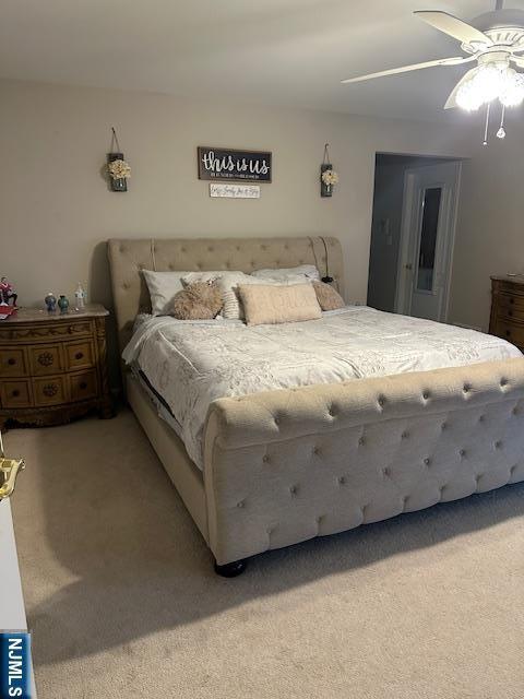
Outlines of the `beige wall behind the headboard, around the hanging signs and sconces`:
M82 281L110 306L107 238L199 235L338 236L347 297L365 300L376 152L469 154L452 126L227 100L3 81L0 105L0 266L22 305ZM102 175L112 125L133 168L123 194ZM341 176L332 199L319 193L325 141ZM273 183L258 201L210 199L198 145L271 150Z

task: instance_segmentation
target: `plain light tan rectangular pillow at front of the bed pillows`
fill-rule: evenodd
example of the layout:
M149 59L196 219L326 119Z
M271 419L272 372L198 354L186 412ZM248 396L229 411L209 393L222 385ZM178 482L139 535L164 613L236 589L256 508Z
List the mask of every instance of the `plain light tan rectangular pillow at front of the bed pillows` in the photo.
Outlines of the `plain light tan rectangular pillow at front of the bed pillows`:
M248 325L289 323L322 317L311 284L240 284L238 293L242 299Z

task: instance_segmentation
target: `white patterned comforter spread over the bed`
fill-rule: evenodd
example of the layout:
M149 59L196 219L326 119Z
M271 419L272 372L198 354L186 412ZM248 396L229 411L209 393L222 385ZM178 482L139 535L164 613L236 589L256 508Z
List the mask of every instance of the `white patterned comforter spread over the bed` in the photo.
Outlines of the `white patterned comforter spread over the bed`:
M218 398L521 356L505 342L454 325L349 306L321 320L240 321L148 317L123 352L169 405L202 467L202 430Z

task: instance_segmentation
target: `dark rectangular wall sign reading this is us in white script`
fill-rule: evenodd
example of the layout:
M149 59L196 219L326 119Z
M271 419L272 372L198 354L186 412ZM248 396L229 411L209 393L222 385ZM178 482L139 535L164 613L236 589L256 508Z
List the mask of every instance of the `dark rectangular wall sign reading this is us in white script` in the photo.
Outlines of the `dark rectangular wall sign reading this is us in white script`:
M271 182L271 153L199 146L199 178Z

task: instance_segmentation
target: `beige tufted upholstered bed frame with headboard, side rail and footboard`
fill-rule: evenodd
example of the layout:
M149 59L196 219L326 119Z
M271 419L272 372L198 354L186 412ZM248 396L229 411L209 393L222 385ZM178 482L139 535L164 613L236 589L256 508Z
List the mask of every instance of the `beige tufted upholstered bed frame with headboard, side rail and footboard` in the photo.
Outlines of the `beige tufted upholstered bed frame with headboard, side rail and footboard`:
M342 249L326 238L343 292ZM120 346L148 309L140 271L315 263L320 238L110 240ZM524 481L524 358L226 398L210 406L204 472L126 375L128 401L221 574L271 548Z

